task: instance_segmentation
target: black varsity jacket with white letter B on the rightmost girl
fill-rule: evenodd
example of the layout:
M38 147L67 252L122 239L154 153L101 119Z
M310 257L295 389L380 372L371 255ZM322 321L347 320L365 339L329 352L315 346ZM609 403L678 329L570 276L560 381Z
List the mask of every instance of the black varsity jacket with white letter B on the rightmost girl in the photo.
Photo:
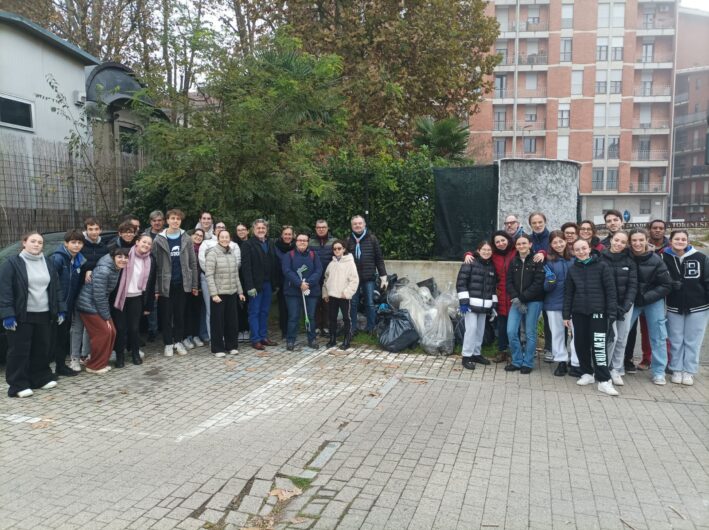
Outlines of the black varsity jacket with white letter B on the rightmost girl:
M668 247L662 259L673 283L667 311L687 315L709 310L709 257L689 247L680 258Z

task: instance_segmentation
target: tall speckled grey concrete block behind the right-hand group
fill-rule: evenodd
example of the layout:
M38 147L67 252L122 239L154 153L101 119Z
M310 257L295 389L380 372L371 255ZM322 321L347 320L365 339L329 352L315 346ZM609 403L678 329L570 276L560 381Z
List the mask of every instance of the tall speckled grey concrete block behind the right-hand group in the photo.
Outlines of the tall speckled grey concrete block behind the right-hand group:
M529 232L527 217L534 211L544 212L550 228L576 220L580 167L567 160L500 160L497 226L515 214Z

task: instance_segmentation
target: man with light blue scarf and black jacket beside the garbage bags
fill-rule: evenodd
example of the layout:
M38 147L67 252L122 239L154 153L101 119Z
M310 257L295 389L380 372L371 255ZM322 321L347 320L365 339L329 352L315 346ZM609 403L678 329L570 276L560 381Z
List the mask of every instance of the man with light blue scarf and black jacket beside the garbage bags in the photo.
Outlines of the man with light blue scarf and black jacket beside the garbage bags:
M367 230L367 223L361 215L355 215L350 220L352 233L345 242L347 250L354 256L359 274L359 286L352 296L352 328L357 326L357 306L360 296L364 296L364 309L367 315L367 332L374 331L376 311L374 308L374 288L377 275L381 281L382 290L387 288L387 272L384 266L382 249L379 240Z

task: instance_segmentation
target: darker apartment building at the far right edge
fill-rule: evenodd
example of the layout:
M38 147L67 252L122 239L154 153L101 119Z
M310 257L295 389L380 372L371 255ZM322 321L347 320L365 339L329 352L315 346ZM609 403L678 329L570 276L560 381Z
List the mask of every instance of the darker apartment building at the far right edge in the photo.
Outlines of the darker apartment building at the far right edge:
M680 7L674 97L673 219L709 220L709 166L705 165L707 115L709 12Z

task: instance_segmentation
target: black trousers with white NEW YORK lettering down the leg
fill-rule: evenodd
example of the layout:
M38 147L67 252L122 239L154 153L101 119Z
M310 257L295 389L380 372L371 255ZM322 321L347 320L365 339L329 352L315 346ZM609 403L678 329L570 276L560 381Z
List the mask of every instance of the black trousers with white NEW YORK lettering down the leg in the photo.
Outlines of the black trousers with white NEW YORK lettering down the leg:
M571 315L574 323L574 346L579 366L584 374L593 374L602 383L611 378L606 355L606 332L608 319L604 313Z

